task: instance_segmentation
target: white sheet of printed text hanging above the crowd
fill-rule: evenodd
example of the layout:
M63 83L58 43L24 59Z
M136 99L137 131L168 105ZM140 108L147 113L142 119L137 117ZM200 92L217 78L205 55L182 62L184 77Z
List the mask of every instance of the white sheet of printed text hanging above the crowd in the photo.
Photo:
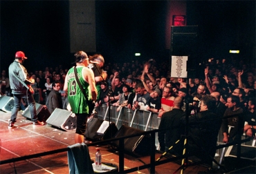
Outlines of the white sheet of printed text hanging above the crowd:
M188 56L172 56L171 77L187 78Z

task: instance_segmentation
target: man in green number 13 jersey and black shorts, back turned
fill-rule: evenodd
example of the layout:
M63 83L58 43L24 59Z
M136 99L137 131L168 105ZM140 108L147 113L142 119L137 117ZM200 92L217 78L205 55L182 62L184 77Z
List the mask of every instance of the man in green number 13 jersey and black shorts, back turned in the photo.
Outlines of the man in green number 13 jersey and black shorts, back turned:
M77 68L77 77L84 88L86 97L80 86L75 79L75 71L72 67L68 70L65 78L64 91L68 93L68 101L71 106L71 110L77 117L77 128L75 130L75 143L84 142L84 133L86 130L86 122L89 115L89 104L87 101L92 99L96 100L97 89L95 86L95 79L93 71L86 66L89 65L89 58L86 53L79 51L75 53L75 63Z

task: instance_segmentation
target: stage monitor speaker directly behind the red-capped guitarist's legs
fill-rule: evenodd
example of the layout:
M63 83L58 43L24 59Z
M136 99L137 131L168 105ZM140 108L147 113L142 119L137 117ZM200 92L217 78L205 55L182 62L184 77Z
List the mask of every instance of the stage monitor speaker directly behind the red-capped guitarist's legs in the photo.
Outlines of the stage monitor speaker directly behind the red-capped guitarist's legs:
M48 119L48 117L51 115L48 108L42 104L35 103L35 109L37 110L37 118L40 122L46 122L46 119ZM31 119L29 106L23 111L22 115L28 119Z

